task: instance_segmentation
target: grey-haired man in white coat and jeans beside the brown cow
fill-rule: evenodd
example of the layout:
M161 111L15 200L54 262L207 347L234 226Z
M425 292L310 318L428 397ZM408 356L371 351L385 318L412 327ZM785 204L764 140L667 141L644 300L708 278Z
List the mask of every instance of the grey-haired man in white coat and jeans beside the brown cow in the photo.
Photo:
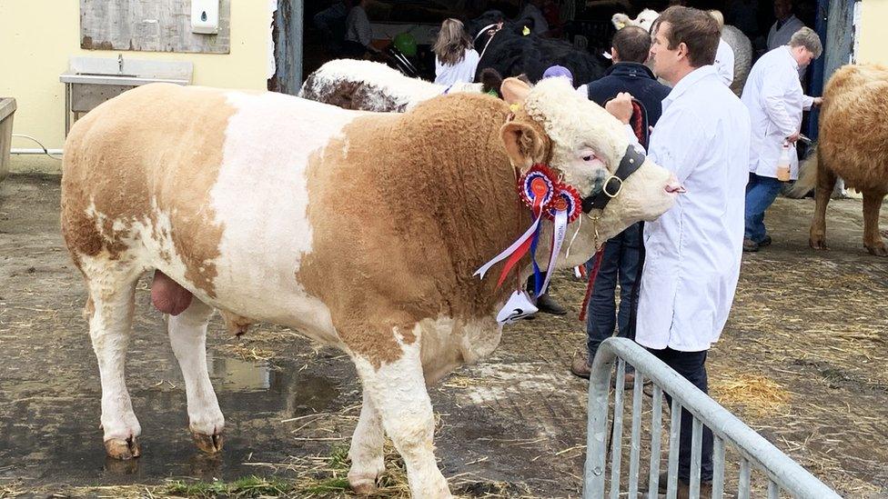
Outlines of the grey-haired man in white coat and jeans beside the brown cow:
M756 61L743 87L742 101L752 118L743 251L758 251L771 244L764 212L782 190L777 162L784 141L790 145L790 179L799 177L795 142L802 126L802 111L822 102L821 97L802 93L799 69L811 64L822 51L820 37L811 28L802 27L792 35L789 45L779 46Z

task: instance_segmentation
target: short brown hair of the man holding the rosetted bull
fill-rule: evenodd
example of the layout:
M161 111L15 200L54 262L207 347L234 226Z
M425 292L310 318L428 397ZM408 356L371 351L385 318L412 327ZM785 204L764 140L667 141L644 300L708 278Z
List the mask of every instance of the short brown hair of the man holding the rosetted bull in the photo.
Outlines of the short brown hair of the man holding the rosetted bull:
M651 27L651 32L656 34L662 23L669 23L670 26L666 36L670 50L675 50L682 43L687 45L691 67L715 63L721 34L718 22L709 13L675 5L663 11Z

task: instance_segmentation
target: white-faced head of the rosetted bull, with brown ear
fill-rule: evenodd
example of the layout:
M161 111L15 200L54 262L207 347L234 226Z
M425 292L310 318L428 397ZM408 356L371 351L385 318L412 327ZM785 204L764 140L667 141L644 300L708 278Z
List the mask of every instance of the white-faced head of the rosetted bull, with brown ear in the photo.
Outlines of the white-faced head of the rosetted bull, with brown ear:
M510 162L522 172L537 163L548 164L590 201L617 174L624 158L630 159L632 148L625 126L600 105L577 94L563 78L542 80L532 89L507 78L502 94L514 110L514 117L502 126L502 140ZM619 188L614 189L614 182L610 182L606 195L611 199L603 209L585 203L587 213L580 217L585 219L580 236L594 245L602 245L629 225L660 216L681 192L666 169L643 155L631 159L641 165L632 168Z

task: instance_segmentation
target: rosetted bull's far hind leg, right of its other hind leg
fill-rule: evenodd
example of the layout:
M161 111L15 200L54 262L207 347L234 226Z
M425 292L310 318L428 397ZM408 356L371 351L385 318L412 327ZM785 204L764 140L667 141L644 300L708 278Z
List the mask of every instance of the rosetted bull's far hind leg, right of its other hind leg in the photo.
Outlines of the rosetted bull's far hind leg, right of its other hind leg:
M207 324L213 309L195 298L188 308L169 317L169 343L182 369L188 399L188 420L197 447L222 450L225 418L207 372Z

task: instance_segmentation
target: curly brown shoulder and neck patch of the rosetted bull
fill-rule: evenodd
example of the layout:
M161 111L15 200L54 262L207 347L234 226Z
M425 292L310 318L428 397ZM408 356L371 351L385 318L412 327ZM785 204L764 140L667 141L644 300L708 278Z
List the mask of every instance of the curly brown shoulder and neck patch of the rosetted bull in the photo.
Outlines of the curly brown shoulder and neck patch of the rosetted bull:
M488 316L513 280L494 292L496 279L472 274L530 224L517 201L501 202L517 197L500 138L508 105L487 95L445 96L416 111L358 118L346 128L347 144L332 142L308 167L315 246L297 280L328 305L343 342L374 364L401 355L392 327L412 343L422 319ZM459 124L472 120L490 124L488 133L467 134ZM526 114L516 121L545 136ZM547 159L548 143L539 152ZM441 166L443 157L457 164Z

